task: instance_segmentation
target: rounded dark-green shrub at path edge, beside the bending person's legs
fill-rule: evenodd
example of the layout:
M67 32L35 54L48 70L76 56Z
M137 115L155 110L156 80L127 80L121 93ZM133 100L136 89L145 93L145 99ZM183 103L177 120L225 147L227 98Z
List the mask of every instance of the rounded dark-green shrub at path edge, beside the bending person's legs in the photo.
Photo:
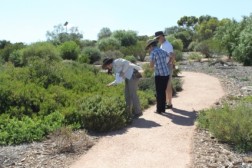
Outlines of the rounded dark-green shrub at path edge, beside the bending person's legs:
M126 125L125 102L122 97L92 96L79 103L76 114L81 127L93 131L110 131Z

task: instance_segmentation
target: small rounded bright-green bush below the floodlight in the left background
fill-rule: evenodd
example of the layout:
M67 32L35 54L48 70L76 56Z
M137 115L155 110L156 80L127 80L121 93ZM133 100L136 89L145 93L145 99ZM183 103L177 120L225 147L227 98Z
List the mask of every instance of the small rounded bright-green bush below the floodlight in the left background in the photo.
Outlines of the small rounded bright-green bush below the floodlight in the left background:
M66 41L60 46L60 55L63 59L77 60L80 47L74 41Z

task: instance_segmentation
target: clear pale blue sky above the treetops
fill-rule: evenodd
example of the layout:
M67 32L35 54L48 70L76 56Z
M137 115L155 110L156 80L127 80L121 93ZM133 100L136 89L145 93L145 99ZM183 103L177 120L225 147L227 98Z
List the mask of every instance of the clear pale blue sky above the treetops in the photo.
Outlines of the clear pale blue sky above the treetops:
M252 14L251 7L251 0L1 0L0 40L45 41L47 31L66 21L88 40L97 40L104 27L151 36L177 26L183 16L240 21Z

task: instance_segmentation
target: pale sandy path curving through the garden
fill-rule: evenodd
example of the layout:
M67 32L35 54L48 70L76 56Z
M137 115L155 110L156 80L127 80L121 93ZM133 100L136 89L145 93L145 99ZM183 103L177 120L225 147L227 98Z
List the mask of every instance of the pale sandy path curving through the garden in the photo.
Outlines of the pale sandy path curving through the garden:
M193 72L180 75L183 91L173 98L173 110L159 115L155 106L126 129L102 137L71 168L193 167L195 111L208 108L224 91L217 78Z

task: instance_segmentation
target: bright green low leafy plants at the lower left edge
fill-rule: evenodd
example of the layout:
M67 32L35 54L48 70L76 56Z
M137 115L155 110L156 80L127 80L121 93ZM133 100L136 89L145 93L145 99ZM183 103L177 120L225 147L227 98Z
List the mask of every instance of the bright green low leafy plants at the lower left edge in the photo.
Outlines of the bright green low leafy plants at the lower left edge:
M40 118L24 116L21 119L1 115L0 145L39 141L49 132L60 128L63 119L63 115L59 112L54 112Z

